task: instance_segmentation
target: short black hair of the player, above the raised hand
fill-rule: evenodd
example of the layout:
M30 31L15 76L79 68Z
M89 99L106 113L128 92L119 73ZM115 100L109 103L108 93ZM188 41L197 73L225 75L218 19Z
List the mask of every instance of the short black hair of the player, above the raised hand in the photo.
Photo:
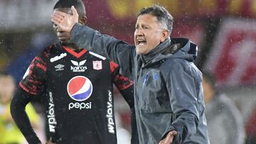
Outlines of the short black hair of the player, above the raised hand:
M85 13L85 4L81 0L59 0L53 9L59 9L59 8L71 8L71 6L75 6L75 9L78 10L78 13Z

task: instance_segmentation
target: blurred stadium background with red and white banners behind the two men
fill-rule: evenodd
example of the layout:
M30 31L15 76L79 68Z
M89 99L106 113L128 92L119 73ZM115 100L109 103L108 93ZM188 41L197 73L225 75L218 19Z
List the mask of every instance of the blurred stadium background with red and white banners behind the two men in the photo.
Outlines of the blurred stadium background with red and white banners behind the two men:
M0 1L0 70L16 84L33 57L57 42L50 21L55 2ZM154 4L174 16L172 38L186 37L198 45L196 65L216 77L218 91L241 113L246 143L256 143L256 0L85 0L87 24L133 44L137 12ZM115 92L119 126L129 137L129 107ZM36 111L41 113L40 106Z

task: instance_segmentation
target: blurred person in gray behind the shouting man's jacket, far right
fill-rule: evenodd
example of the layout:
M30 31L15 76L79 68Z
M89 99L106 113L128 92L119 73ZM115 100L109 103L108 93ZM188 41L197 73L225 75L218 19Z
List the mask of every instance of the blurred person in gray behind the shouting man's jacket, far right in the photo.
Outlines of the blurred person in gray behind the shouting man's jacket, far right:
M241 113L228 96L215 89L215 76L210 72L203 73L203 94L210 143L245 143Z

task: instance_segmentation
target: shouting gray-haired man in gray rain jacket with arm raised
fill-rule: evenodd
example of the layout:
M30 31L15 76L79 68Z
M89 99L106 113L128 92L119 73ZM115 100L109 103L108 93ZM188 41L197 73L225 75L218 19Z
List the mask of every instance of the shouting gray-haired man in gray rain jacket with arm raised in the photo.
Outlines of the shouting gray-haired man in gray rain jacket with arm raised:
M193 64L197 46L185 38L170 38L173 17L164 7L139 12L135 45L80 26L75 8L71 10L72 16L53 13L53 23L70 32L73 43L107 55L134 79L139 143L209 143L202 74Z

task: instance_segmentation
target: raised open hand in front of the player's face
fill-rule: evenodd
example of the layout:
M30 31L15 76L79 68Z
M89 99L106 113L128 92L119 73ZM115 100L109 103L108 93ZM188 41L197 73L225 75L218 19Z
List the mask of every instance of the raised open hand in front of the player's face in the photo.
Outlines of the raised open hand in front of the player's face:
M78 23L78 11L76 11L74 6L71 6L71 11L73 15L61 11L54 11L51 21L60 26L63 31L70 33L75 23Z

